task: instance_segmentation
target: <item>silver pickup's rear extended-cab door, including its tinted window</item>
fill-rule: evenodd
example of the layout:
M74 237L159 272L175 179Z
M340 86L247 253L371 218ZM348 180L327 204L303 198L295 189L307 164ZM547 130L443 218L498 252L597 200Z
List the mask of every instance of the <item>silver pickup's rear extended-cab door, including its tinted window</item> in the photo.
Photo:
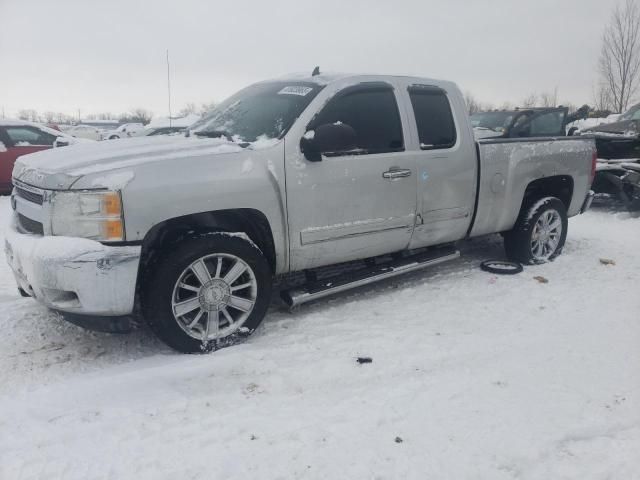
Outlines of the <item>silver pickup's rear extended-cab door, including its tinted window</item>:
M412 149L418 171L418 214L411 247L459 240L471 224L475 204L475 141L461 95L433 85L409 85Z

